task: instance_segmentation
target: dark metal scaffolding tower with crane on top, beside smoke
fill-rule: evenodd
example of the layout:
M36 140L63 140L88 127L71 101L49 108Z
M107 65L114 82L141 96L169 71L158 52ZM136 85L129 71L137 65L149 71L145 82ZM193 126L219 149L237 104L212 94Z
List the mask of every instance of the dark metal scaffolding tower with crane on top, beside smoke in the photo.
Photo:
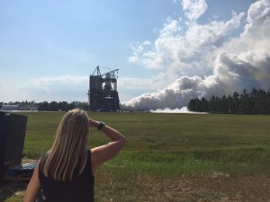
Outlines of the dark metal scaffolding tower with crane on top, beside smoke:
M89 76L89 90L87 93L89 110L119 111L117 79L115 77L115 72L118 74L119 69L113 69L102 75L100 67L103 66L96 66L93 75Z

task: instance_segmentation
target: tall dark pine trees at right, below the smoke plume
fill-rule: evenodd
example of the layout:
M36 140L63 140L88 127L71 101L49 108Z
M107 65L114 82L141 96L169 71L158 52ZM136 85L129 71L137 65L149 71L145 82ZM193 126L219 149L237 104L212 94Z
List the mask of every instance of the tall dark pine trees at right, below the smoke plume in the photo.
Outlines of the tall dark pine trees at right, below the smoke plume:
M189 101L188 110L223 114L270 114L270 90L257 90L242 93L233 92L232 95L217 97L212 95L211 100L205 98Z

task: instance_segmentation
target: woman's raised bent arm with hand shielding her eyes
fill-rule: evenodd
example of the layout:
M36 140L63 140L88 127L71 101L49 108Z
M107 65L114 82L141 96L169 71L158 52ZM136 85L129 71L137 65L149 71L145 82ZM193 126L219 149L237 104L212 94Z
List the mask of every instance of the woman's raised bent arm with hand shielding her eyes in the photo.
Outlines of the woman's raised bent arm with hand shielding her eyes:
M100 122L89 119L90 127L98 127ZM95 174L98 166L109 161L121 151L125 145L126 138L119 131L112 127L103 126L101 131L110 138L111 142L91 149L92 171Z

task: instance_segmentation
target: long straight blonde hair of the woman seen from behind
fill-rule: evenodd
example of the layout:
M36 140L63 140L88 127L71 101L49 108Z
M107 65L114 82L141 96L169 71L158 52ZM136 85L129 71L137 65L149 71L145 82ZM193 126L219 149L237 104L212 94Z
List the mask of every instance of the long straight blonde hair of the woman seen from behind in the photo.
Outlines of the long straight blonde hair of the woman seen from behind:
M54 180L72 180L84 171L87 159L88 116L84 110L70 110L61 119L49 153L41 158L41 171Z

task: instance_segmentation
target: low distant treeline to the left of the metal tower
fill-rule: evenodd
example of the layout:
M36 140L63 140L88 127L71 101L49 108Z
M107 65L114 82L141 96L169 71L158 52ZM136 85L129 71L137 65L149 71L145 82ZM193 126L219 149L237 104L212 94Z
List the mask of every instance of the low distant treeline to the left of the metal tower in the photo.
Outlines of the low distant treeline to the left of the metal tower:
M67 101L42 101L42 102L35 102L35 101L15 101L15 102L0 102L0 109L2 105L23 105L23 106L36 106L37 110L40 111L67 111L72 110L75 108L79 108L82 110L88 110L88 103L85 101L72 101L68 103Z

